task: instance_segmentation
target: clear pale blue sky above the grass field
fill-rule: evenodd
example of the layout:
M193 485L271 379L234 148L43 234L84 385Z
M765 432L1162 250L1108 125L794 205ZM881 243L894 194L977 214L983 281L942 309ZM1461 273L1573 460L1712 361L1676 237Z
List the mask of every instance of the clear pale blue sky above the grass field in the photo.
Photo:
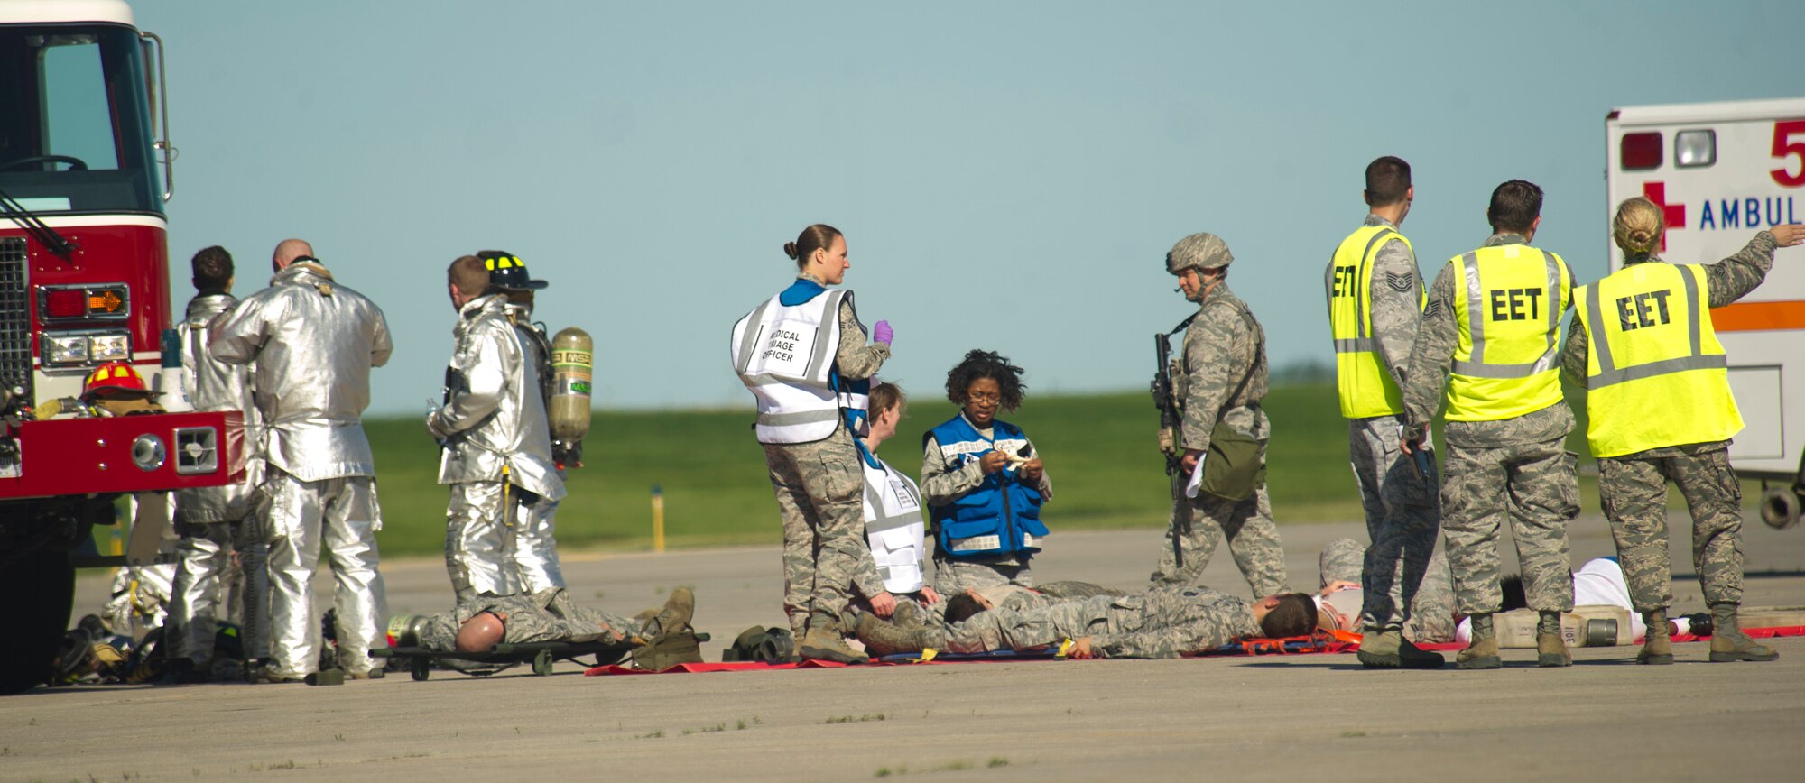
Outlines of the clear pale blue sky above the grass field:
M484 247L552 281L608 408L744 406L727 330L848 235L883 375L933 393L969 348L1032 393L1143 388L1189 312L1193 231L1276 366L1332 359L1321 272L1377 155L1415 170L1426 274L1486 238L1507 179L1581 280L1606 249L1605 114L1805 92L1782 2L135 4L170 51L175 305L220 244L238 292L285 236L375 299L374 413L437 397L444 267ZM1789 32L1792 31L1792 32ZM1032 402L1029 402L1032 404Z

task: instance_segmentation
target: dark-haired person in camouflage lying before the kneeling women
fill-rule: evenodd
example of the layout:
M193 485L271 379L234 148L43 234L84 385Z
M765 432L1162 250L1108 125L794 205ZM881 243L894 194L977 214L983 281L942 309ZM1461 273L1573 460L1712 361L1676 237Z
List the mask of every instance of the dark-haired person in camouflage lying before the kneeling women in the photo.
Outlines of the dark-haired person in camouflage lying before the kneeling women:
M967 594L969 595L969 594ZM948 606L951 612L953 606ZM1157 586L1134 595L1092 595L1032 608L993 606L948 628L859 617L859 640L877 655L1040 651L1065 640L1074 659L1173 659L1240 639L1298 637L1316 628L1309 594L1247 603L1209 588Z

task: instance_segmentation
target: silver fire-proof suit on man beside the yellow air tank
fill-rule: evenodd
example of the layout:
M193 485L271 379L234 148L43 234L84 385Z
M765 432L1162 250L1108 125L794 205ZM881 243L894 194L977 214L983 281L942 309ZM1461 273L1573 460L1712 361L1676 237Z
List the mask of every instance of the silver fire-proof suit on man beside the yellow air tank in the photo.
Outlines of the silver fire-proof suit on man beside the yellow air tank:
M444 406L426 428L444 444L446 572L458 601L563 586L551 516L565 496L552 462L538 364L505 312L480 296L458 310ZM536 529L543 525L543 529Z

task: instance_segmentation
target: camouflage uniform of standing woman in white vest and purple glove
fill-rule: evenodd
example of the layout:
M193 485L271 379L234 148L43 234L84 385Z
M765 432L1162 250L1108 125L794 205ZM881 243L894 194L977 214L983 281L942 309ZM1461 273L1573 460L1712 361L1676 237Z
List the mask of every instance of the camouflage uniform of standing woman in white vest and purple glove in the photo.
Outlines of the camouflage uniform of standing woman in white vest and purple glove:
M821 283L814 274L801 278ZM872 377L888 357L888 345L865 343L852 303L841 301L839 377ZM800 639L810 617L838 622L852 603L850 590L866 597L884 592L865 543L865 469L845 424L812 444L762 446L783 516L783 612Z

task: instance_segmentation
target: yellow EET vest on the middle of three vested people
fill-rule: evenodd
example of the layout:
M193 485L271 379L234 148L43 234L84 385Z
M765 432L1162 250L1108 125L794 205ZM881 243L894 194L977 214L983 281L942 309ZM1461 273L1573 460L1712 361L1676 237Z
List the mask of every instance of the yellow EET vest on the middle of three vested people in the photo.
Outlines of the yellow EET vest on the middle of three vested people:
M1554 253L1529 245L1480 247L1455 267L1455 345L1448 377L1448 420L1493 422L1534 413L1561 401L1561 312L1572 274Z

